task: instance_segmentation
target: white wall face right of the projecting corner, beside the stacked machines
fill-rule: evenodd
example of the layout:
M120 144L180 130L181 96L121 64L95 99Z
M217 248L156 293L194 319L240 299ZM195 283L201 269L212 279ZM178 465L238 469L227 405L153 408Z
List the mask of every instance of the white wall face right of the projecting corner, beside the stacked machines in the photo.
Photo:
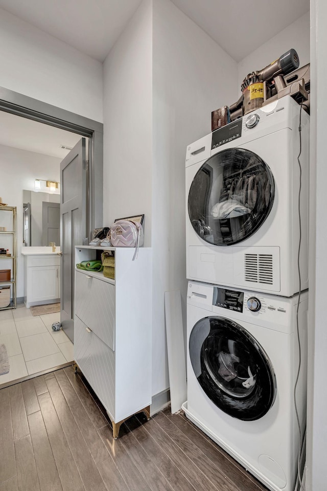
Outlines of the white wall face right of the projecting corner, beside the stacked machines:
M185 328L186 145L211 132L211 111L228 105L236 95L237 63L169 0L154 0L154 394L169 387L164 292L181 291Z

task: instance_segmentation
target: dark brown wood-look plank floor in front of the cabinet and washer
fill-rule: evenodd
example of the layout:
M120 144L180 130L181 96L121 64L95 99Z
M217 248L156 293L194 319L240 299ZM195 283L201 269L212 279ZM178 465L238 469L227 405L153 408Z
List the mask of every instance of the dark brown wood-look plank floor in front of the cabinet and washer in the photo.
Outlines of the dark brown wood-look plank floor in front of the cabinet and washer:
M0 491L263 491L183 414L132 417L113 440L73 367L0 390Z

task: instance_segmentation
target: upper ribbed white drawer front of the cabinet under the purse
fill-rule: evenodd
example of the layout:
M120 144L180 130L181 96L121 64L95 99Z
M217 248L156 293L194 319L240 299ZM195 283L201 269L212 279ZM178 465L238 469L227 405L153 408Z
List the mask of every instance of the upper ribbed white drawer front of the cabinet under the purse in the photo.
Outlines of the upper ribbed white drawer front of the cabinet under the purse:
M115 287L76 272L75 314L114 350Z

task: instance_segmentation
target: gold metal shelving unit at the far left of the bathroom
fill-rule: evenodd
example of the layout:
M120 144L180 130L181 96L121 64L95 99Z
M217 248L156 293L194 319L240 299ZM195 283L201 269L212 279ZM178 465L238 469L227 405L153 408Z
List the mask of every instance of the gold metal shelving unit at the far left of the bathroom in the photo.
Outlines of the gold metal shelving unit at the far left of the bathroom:
M0 255L0 269L2 267L2 261L12 261L11 278L8 281L0 281L0 286L11 286L10 292L10 305L7 307L0 307L0 310L8 310L10 308L16 308L17 300L17 208L15 206L0 206L0 224L2 223L3 212L12 213L12 230L11 231L0 231L0 236L11 235L11 256ZM7 219L4 220L7 223ZM1 245L1 244L0 244ZM8 243L6 242L6 245ZM3 245L1 245L3 247ZM9 248L8 248L9 249Z

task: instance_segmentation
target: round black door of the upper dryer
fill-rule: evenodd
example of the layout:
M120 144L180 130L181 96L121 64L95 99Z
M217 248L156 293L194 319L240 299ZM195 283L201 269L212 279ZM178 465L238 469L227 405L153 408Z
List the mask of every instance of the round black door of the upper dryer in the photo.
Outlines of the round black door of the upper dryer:
M191 224L209 244L236 244L261 227L274 193L271 170L258 155L244 148L222 150L201 166L191 184Z

